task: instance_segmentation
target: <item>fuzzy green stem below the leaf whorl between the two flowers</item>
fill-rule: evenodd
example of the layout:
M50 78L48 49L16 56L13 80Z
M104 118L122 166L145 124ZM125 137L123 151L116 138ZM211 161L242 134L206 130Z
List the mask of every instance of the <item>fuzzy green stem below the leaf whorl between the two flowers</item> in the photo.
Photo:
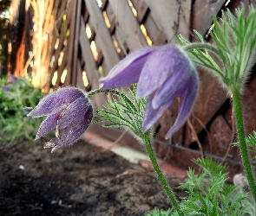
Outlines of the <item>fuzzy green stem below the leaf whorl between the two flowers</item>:
M145 134L147 135L147 133ZM174 192L172 191L171 187L169 187L169 185L167 184L167 181L164 177L164 175L161 172L161 168L159 167L155 156L154 156L154 150L151 146L151 142L150 142L150 138L149 136L145 136L143 137L143 141L145 143L147 152L148 152L148 156L150 158L150 161L153 165L154 171L156 173L156 175L158 176L158 179L161 182L161 186L164 188L165 192L167 193L167 196L169 197L169 199L172 201L177 213L179 213L179 215L183 216L184 214L181 212L181 207L179 206L178 201L176 200L175 196L174 196Z

